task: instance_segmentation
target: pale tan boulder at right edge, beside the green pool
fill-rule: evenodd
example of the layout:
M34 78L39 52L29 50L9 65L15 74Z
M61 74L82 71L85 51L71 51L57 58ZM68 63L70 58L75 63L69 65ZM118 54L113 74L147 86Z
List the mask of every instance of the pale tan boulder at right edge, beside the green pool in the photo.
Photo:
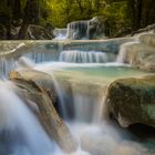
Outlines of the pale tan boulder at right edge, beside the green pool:
M155 34L141 34L137 42L121 46L118 61L143 71L155 72Z

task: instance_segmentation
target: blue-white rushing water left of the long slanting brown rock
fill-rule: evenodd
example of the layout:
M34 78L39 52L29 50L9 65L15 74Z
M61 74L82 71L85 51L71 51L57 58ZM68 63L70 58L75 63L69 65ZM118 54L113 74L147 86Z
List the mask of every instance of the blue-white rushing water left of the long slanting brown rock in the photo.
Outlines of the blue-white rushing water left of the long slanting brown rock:
M4 155L48 155L53 151L35 116L16 94L14 85L0 82L0 145ZM2 153L2 151L0 149ZM0 154L1 154L0 153Z

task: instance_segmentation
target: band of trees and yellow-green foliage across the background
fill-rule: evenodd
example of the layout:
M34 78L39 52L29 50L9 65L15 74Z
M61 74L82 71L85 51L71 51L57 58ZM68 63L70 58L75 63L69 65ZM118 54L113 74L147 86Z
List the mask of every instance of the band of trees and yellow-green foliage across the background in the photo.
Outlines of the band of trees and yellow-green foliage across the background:
M155 22L155 0L1 0L0 23L22 19L27 23L58 28L101 17L106 33L134 31Z

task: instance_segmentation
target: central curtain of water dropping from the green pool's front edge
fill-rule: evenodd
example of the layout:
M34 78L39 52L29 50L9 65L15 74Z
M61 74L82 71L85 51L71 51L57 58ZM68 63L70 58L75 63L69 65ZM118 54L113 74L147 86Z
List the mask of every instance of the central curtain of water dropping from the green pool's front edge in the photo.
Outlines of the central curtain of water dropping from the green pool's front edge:
M79 85L74 85L72 82L64 83L55 79L54 86L59 99L59 111L64 120L85 123L101 122L99 112L104 104L102 92L91 95L87 89L93 86L87 85L87 87L83 87L83 90L85 89L83 93L80 93L78 91Z

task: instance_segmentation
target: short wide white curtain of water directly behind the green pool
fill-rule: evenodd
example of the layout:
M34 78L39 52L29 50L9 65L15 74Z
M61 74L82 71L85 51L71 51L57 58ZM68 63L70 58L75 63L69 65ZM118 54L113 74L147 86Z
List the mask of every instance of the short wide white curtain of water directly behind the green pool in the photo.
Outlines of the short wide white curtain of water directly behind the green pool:
M113 61L113 58L105 52L100 51L62 51L60 54L61 62L74 63L105 63Z

